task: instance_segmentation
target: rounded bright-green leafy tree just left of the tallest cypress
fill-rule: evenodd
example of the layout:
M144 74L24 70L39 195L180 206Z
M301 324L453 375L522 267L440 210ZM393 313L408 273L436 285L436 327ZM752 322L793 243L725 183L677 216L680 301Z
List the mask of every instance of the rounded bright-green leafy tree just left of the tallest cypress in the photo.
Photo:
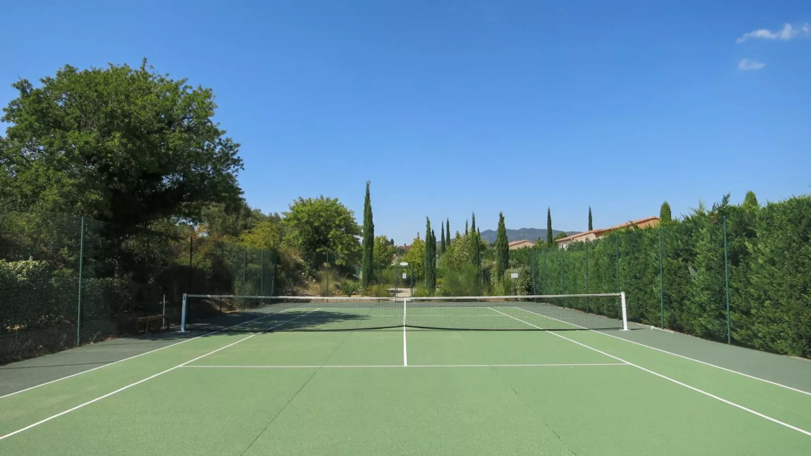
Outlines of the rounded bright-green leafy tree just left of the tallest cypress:
M357 264L360 226L337 198L299 197L284 216L284 242L301 252L308 273L327 257L336 265Z

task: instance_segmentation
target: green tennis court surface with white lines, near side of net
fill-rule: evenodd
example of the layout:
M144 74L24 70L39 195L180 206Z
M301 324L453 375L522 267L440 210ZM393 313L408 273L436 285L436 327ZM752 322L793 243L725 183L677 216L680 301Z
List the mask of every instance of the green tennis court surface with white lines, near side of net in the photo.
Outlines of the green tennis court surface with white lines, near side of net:
M210 333L0 397L0 454L811 454L807 389L635 331Z

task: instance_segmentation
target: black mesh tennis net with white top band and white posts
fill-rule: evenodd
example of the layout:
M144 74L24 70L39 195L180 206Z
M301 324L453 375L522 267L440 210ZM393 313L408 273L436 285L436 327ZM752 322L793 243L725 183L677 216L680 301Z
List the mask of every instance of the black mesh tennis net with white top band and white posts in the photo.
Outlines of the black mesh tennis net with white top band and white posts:
M181 330L627 329L624 294L341 298L184 295Z

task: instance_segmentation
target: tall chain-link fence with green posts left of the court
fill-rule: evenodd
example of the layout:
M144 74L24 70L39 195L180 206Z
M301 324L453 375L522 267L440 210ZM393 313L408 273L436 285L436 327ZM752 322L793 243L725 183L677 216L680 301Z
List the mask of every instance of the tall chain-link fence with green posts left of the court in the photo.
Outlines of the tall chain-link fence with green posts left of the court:
M0 213L0 364L179 319L183 293L274 295L275 252L150 226L111 239L104 223Z

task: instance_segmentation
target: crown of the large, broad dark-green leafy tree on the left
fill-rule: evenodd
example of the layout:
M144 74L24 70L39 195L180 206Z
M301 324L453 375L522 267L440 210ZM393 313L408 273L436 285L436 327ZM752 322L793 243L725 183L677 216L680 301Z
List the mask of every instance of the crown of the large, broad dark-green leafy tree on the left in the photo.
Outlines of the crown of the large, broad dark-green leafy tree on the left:
M138 68L66 66L19 80L3 109L0 200L107 222L114 239L165 217L200 219L241 193L239 144L212 116L211 89Z

